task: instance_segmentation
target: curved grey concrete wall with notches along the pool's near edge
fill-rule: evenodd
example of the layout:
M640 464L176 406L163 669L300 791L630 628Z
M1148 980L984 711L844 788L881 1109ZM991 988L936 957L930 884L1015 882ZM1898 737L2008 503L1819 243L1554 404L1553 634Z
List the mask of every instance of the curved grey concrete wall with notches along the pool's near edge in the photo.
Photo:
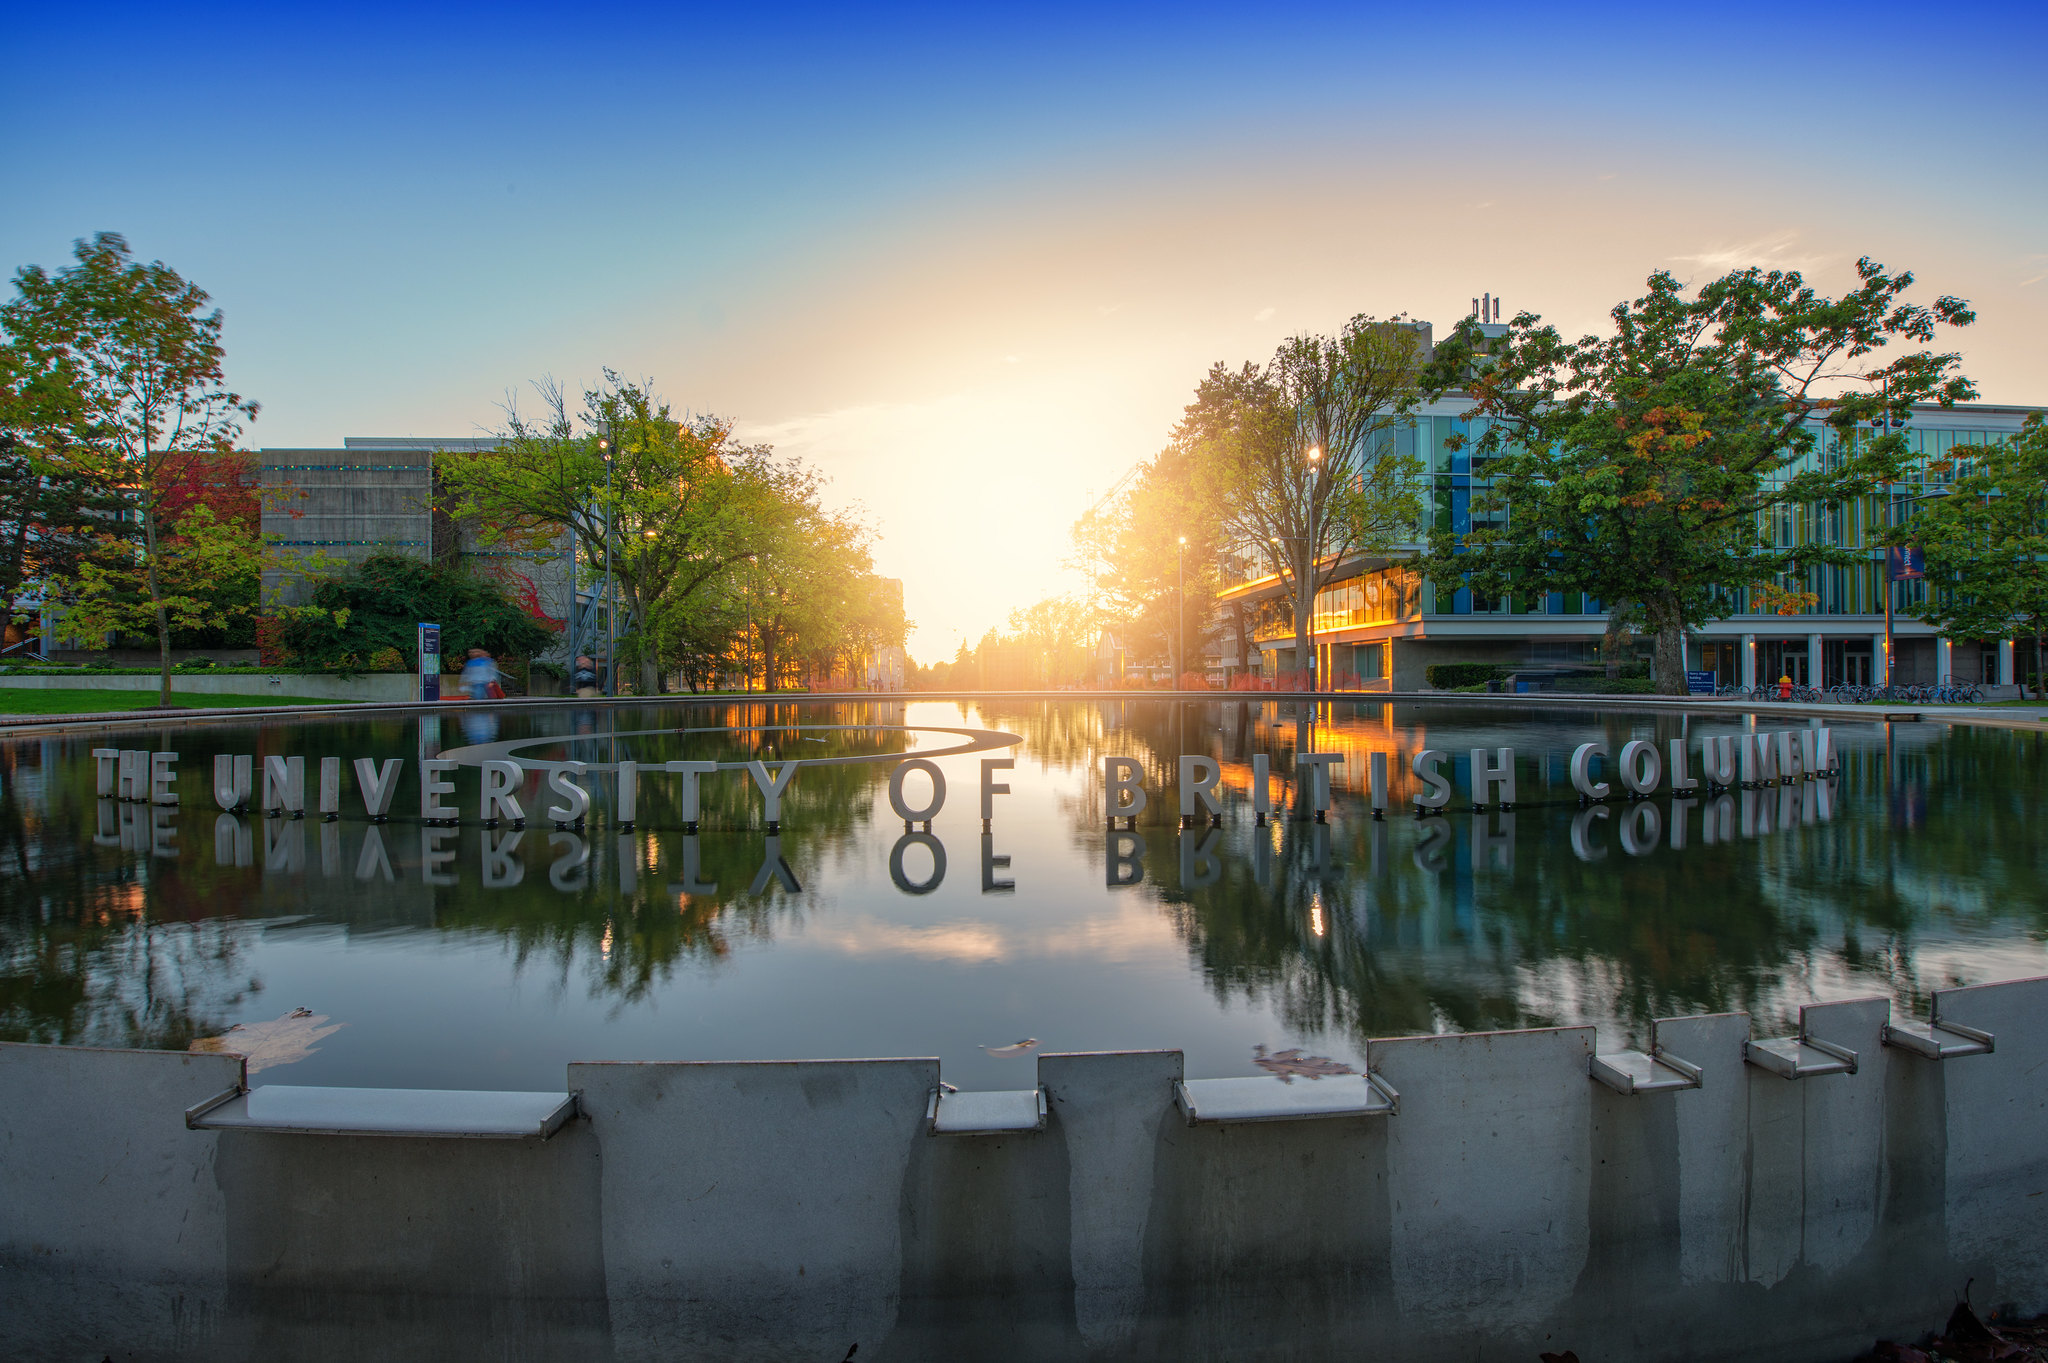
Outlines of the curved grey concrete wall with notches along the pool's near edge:
M1044 1056L1008 1136L926 1134L936 1060L573 1064L549 1142L215 1136L231 1058L0 1046L0 1357L1843 1359L1970 1279L2048 1308L2048 980L1935 1007L1995 1052L1829 1003L1855 1072L1786 1081L1663 1019L1704 1083L1624 1097L1589 1027L1401 1038L1395 1115L1219 1126L1178 1052Z

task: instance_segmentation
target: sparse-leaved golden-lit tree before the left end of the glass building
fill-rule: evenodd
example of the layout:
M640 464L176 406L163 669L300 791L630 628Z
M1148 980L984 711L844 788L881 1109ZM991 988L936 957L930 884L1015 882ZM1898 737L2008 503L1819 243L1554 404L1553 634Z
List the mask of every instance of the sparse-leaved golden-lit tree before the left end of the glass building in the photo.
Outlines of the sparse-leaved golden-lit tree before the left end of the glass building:
M1315 593L1352 555L1415 530L1421 460L1395 434L1421 399L1423 360L1419 325L1352 317L1333 338L1284 342L1264 370L1212 366L1174 432L1196 452L1219 538L1288 585L1300 669Z

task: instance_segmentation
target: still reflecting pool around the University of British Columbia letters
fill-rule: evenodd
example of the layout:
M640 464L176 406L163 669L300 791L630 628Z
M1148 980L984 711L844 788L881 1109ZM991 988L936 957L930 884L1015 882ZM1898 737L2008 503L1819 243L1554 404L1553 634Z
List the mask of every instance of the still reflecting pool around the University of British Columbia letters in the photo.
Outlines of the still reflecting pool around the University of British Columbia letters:
M268 1036L262 1081L557 1089L567 1060L940 1056L969 1089L1034 1050L1180 1048L1190 1076L1364 1040L1747 1009L2048 974L2042 739L1833 724L1839 776L1581 804L1581 743L1804 729L1774 716L1468 704L1128 702L442 706L0 745L0 1038L184 1050ZM98 798L94 749L174 749L176 806ZM1470 812L1470 751L1513 747L1511 812ZM1413 817L1419 749L1452 800ZM299 755L307 817L223 815L213 757ZM1253 815L1253 759L1276 815ZM1327 823L1298 753L1339 753ZM1386 755L1389 815L1370 810ZM1149 802L1108 827L1102 759ZM1223 812L1182 829L1178 757ZM313 810L342 757L342 817ZM406 759L371 823L356 757ZM905 827L891 772L946 796ZM983 761L1014 759L989 780ZM457 827L420 819L420 759L463 763ZM477 763L524 763L526 825L479 825ZM799 761L778 831L758 780ZM582 761L582 829L543 812ZM614 827L610 763L637 819ZM700 778L696 833L668 761ZM1614 780L1612 763L1606 767ZM1698 776L1698 772L1694 772ZM924 774L897 798L920 812ZM260 804L260 794L256 798ZM309 1019L293 1027L293 1009ZM313 1025L317 1023L317 1025ZM1020 1046L1022 1042L1036 1046ZM1262 1064L1264 1060L1264 1064ZM1313 1070L1315 1064L1309 1064Z

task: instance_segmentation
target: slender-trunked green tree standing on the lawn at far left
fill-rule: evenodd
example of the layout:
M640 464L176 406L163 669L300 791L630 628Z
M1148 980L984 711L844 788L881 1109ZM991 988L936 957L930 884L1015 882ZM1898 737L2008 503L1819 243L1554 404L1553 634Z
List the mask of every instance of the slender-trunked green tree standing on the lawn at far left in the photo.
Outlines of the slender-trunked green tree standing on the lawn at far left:
M184 606L166 596L164 495L172 471L225 456L256 403L225 387L221 313L162 260L137 264L119 233L74 246L78 264L49 274L23 266L0 307L10 407L35 444L117 489L141 526L147 618L92 587L111 614L154 624L170 704L170 630ZM190 551L184 551L190 555ZM106 591L102 591L106 589Z

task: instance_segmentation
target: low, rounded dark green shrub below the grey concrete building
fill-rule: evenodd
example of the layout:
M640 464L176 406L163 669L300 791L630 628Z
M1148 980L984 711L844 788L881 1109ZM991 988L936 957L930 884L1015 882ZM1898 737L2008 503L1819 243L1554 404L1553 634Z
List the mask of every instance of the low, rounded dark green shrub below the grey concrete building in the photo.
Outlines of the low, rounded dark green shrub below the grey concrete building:
M555 641L541 620L461 563L373 555L338 577L313 583L311 602L274 614L268 643L291 661L344 671L369 669L381 653L418 663L418 622L440 624L442 657L483 649L494 657L532 657Z

